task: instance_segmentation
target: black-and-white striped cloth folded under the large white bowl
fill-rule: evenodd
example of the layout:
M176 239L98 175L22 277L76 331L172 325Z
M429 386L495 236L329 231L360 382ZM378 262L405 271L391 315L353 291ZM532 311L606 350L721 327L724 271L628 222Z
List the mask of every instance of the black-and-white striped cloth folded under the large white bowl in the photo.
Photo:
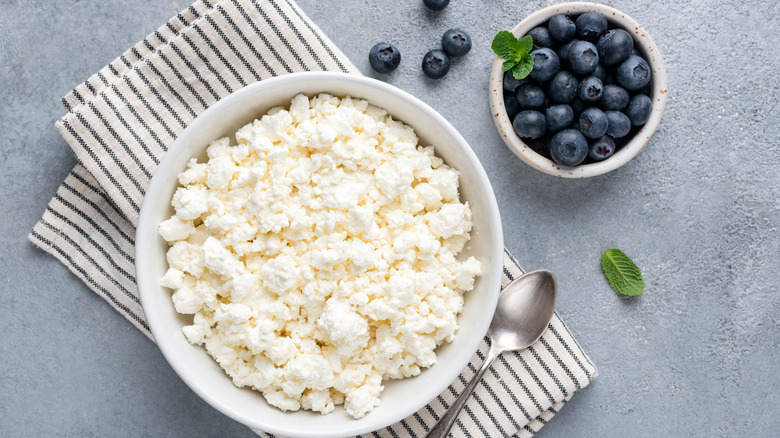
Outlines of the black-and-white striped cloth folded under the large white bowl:
M79 164L30 240L53 254L151 339L135 285L135 223L160 158L198 114L269 77L308 70L359 74L292 0L200 0L76 87L57 122ZM504 284L521 275L505 254ZM483 342L431 404L371 437L424 436L480 367ZM596 377L555 315L545 335L485 375L454 436L530 436ZM263 434L261 431L256 431Z

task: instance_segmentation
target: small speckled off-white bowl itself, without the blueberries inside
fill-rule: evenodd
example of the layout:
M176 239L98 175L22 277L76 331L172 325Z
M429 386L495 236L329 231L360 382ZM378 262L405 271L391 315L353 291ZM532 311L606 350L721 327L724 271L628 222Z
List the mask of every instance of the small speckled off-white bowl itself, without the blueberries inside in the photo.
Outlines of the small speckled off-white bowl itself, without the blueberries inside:
M650 34L639 23L615 8L588 2L560 3L540 9L529 15L512 29L512 33L516 37L521 37L534 27L545 24L555 15L580 15L585 12L600 12L607 17L610 27L620 27L630 33L634 37L634 47L647 60L653 72L650 82L650 97L653 101L653 111L650 114L650 118L623 147L615 152L615 155L596 163L566 167L534 151L515 134L514 128L512 128L512 121L507 116L504 108L504 73L501 71L501 64L504 60L497 57L490 70L490 108L493 113L493 121L504 143L521 160L534 169L562 178L586 178L601 175L626 164L650 140L650 137L652 137L658 127L658 123L661 121L661 115L663 115L664 107L666 106L666 67L661 58L661 52L653 42L653 39L650 38Z

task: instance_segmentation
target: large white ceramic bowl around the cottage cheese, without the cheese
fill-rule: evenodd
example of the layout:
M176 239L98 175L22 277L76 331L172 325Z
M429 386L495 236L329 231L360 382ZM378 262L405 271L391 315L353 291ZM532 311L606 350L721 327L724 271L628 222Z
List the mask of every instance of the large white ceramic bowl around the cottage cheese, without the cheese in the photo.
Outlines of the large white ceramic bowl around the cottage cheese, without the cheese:
M299 93L327 92L363 98L412 126L423 144L461 172L461 199L473 211L473 230L466 255L483 264L483 275L466 293L458 318L460 330L451 344L436 350L436 364L419 376L385 382L381 406L360 420L342 407L329 415L282 412L259 392L239 389L202 347L190 345L181 332L188 317L175 312L171 292L159 285L168 265L166 242L157 234L160 222L173 214L171 198L177 175L191 157L203 157L209 141L230 136L241 126L279 105L289 106ZM136 276L141 304L160 350L182 380L226 415L253 428L281 436L340 437L380 429L421 409L452 383L474 355L487 332L496 302L503 262L498 205L482 165L463 137L441 115L412 95L374 79L340 73L296 73L249 85L227 96L195 119L176 139L157 168L146 192L136 232Z

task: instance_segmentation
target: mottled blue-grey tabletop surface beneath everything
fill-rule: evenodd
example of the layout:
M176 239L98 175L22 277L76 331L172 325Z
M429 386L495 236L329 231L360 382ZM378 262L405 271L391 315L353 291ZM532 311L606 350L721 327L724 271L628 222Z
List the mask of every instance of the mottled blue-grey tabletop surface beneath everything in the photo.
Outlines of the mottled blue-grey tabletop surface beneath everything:
M487 101L489 46L553 2L298 0L363 71L441 112L490 176L507 247L548 268L558 310L600 377L539 436L777 436L780 430L780 6L766 0L614 1L650 31L669 103L618 171L555 179L503 145ZM0 0L0 435L252 436L201 401L152 342L26 239L74 158L59 99L187 0ZM422 55L450 27L474 48L439 82ZM647 288L617 296L599 268L618 247Z

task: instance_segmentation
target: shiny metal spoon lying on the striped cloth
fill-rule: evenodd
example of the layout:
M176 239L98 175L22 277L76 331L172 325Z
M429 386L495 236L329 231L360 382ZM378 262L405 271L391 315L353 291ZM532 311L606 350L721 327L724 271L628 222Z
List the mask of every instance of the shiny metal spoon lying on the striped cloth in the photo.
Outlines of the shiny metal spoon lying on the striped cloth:
M544 269L524 274L504 288L488 330L490 351L485 363L450 410L428 432L427 438L444 438L449 434L482 375L501 353L527 348L542 336L555 310L557 289L555 276Z

